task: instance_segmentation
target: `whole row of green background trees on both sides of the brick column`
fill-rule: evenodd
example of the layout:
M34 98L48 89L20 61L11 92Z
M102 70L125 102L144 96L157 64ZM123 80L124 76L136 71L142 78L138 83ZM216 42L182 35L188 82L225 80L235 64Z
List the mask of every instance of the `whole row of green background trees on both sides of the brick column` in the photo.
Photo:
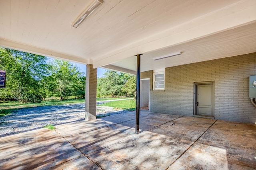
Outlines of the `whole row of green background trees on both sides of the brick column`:
M0 69L6 70L6 88L0 100L35 103L52 96L85 97L84 73L68 61L0 47ZM97 96L134 97L135 76L108 70L97 80Z

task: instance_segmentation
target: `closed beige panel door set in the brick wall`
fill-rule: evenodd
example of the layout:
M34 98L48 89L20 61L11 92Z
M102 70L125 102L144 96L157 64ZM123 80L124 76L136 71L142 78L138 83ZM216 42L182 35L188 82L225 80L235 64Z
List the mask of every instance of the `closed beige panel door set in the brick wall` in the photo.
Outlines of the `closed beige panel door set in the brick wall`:
M213 84L196 85L196 114L213 116Z

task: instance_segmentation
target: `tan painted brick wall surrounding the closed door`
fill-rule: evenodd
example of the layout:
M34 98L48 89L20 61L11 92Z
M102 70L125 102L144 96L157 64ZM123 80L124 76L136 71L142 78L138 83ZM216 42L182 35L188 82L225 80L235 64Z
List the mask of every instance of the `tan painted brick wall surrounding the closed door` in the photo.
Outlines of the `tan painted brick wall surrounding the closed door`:
M142 72L150 78L153 71ZM256 53L165 68L165 90L150 91L150 111L193 115L194 83L214 82L214 117L254 123L256 108L249 100L249 76L256 75Z

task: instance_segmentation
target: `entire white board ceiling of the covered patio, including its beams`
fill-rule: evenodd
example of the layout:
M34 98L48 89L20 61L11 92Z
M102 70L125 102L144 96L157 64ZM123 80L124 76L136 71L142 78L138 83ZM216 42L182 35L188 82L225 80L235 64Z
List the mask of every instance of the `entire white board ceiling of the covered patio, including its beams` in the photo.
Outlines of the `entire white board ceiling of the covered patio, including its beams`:
M0 46L132 74L256 52L255 0L103 0L72 27L92 2L0 0Z

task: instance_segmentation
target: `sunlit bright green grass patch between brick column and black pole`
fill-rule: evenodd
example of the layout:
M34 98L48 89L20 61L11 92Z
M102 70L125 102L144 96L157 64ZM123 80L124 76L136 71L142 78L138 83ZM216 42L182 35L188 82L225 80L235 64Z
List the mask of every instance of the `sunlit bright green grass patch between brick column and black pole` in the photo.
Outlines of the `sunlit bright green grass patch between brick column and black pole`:
M118 109L127 109L129 111L134 111L135 99L112 101L99 106L109 106L109 107L115 107Z

